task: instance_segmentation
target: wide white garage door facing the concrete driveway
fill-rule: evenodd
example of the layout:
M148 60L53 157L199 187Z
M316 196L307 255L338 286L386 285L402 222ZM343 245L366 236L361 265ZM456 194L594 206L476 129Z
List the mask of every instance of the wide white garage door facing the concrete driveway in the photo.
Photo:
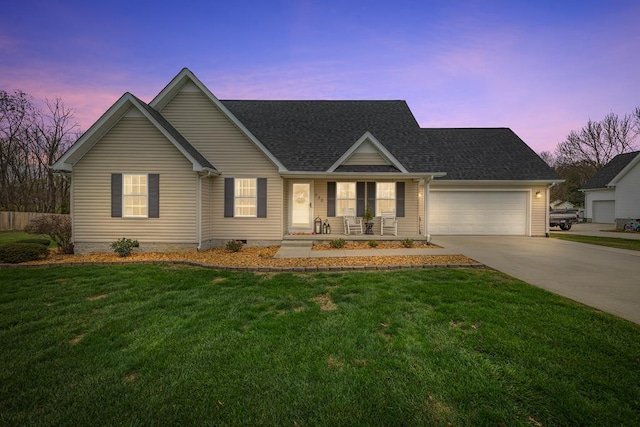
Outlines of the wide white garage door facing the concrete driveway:
M433 235L527 235L528 192L435 191L429 195Z

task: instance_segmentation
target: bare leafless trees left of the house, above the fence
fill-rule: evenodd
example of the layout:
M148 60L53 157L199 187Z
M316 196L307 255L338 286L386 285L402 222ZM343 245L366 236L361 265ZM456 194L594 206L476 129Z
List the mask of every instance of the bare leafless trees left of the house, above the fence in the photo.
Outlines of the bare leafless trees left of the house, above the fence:
M60 98L42 106L0 90L0 211L68 213L67 178L49 167L80 135Z

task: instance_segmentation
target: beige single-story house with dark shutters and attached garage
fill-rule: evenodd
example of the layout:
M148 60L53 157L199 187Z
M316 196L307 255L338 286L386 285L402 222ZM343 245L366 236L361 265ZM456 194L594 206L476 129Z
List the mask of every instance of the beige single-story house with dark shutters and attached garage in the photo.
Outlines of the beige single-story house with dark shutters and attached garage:
M149 104L124 94L52 167L78 253L280 244L315 218L330 239L367 206L398 238L544 236L559 180L508 128L423 129L404 101L220 100L186 68Z

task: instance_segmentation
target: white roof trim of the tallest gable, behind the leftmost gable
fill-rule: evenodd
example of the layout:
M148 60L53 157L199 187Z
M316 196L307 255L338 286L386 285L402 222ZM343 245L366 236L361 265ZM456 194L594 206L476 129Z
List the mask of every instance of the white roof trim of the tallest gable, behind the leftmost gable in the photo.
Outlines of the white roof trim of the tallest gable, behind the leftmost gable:
M245 126L243 122L222 103L220 100L189 70L183 68L164 89L149 103L149 105L157 110L162 110L171 99L176 96L183 86L193 84L197 87L216 107L218 107L224 115L238 128L240 131L256 146L258 149L278 168L280 171L286 171L287 168L280 160L269 151L267 147Z

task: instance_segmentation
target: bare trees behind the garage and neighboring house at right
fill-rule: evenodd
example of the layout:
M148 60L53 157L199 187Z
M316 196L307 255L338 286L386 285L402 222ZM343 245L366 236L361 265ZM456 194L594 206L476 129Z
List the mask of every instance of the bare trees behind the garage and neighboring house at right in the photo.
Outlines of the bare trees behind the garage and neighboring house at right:
M609 113L602 120L589 120L582 129L569 132L553 153L540 153L565 180L551 188L551 199L582 206L584 194L579 190L615 156L638 150L639 140L640 107L623 116Z

